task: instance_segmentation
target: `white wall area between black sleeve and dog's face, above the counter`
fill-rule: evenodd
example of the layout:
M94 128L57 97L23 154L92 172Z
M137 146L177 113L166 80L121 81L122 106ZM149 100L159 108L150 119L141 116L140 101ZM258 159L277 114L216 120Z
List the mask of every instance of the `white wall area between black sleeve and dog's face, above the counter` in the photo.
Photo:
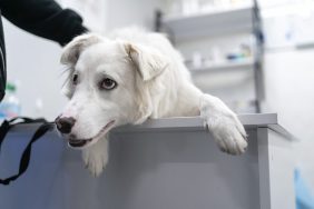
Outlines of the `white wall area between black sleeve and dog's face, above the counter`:
M35 37L14 27L3 18L7 47L8 80L18 81L18 97L22 115L45 116L55 119L65 98L60 94L62 67L59 64L61 47ZM43 109L37 111L36 100L41 99Z

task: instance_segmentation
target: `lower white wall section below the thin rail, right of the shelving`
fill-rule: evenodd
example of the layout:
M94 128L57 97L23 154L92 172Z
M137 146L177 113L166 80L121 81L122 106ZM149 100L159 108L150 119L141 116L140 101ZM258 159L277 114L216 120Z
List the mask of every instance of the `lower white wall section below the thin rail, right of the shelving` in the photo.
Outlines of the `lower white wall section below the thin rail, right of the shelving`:
M282 126L296 136L295 156L314 191L314 50L267 52L265 57L266 103L277 112Z

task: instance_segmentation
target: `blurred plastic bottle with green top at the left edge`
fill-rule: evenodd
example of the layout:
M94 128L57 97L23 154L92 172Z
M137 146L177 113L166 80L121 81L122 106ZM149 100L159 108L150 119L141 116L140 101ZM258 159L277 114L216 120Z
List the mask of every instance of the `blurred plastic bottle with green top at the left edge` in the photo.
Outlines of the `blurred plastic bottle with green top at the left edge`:
M21 112L20 100L17 97L17 87L8 82L6 86L6 97L0 103L0 118L10 119Z

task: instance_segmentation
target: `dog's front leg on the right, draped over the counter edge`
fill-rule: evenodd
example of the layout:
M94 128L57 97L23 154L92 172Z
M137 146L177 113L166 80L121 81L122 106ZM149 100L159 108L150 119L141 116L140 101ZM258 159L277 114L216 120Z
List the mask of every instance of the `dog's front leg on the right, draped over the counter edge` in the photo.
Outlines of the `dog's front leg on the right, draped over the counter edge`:
M239 155L246 150L246 132L237 116L218 98L203 94L200 116L222 151Z

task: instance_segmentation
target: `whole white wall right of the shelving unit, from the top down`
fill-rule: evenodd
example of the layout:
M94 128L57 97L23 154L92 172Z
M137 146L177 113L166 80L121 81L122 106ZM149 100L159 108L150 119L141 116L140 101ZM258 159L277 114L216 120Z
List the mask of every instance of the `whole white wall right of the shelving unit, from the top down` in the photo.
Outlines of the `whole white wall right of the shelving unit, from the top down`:
M278 6L262 9L267 43L264 111L277 112L300 139L294 145L296 166L314 193L314 48L296 48L300 42L314 43L314 7L311 1L276 1Z

